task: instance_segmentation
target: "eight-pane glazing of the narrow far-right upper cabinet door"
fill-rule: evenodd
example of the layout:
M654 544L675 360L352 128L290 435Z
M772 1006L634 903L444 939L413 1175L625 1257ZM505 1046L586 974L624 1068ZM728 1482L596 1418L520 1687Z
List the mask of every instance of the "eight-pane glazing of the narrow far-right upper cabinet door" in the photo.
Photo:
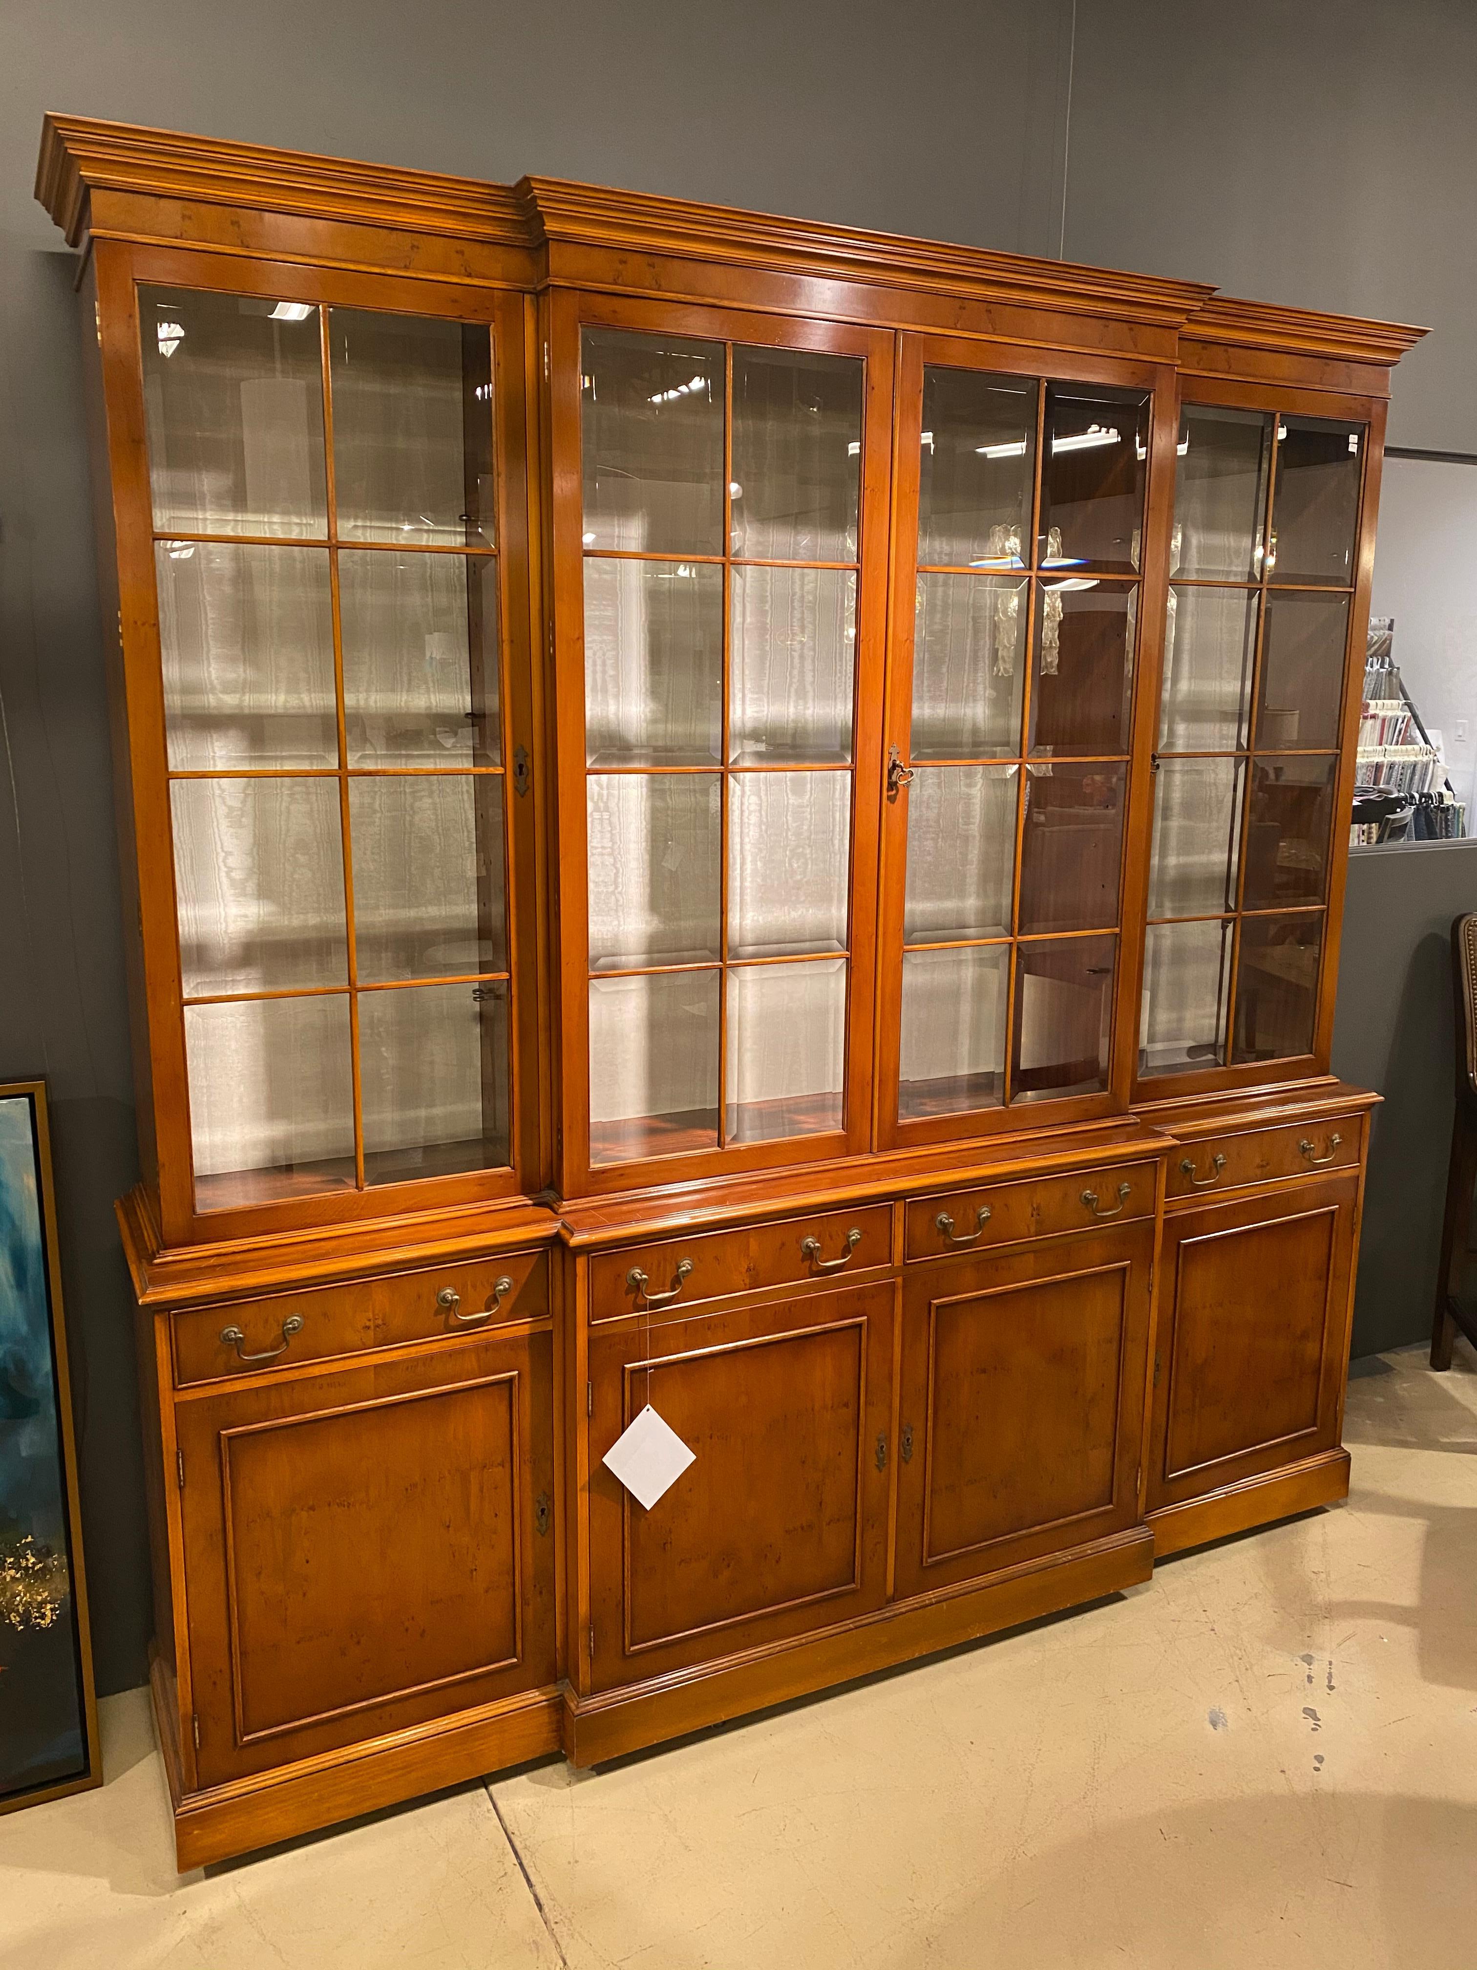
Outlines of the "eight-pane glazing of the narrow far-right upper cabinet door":
M1140 1076L1314 1048L1365 435L1184 406Z

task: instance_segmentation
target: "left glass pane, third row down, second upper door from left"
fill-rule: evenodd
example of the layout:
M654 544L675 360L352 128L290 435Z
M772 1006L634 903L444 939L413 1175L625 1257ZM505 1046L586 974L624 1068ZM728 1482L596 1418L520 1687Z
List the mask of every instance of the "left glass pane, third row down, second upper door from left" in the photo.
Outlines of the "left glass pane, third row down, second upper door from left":
M591 971L717 959L721 776L591 774Z

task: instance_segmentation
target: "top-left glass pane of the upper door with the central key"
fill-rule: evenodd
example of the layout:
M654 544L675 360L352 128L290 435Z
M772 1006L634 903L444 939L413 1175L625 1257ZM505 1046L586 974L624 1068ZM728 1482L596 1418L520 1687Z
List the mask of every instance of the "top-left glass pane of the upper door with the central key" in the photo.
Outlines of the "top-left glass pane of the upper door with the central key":
M1028 376L924 370L920 567L1028 565L1038 390Z

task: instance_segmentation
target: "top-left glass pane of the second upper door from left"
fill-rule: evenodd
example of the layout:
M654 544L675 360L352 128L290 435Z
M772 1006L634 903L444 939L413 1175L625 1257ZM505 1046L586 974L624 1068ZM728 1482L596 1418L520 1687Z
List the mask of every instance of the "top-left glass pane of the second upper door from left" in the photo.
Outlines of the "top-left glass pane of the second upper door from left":
M585 329L585 546L723 554L723 343Z

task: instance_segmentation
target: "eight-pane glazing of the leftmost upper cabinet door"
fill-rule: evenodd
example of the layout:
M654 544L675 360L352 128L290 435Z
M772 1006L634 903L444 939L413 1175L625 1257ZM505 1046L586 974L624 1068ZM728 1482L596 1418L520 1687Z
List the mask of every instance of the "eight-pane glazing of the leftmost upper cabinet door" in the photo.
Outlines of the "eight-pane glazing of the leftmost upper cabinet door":
M492 333L140 319L195 1206L508 1166Z

